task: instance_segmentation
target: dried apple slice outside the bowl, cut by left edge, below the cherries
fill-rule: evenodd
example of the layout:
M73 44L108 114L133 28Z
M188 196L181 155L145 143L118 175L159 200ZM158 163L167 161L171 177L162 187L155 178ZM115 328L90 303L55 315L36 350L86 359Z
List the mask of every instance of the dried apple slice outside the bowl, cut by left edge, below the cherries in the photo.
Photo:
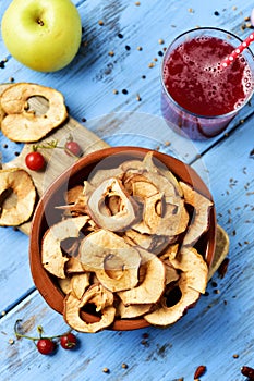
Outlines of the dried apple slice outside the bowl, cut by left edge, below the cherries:
M14 206L7 208L2 201L0 205L0 225L17 226L27 221L33 211L36 200L36 188L31 175L19 168L0 170L0 197L5 192L13 192L16 196Z

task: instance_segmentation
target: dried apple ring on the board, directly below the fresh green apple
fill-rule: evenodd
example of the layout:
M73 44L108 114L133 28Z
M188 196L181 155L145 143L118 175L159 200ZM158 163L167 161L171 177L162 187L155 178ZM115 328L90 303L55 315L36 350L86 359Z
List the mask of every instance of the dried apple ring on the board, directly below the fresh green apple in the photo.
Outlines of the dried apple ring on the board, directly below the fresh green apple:
M43 115L28 109L28 100L35 96L49 102L48 110ZM20 83L7 88L0 102L5 113L1 123L2 133L14 142L37 142L68 118L62 94L36 84Z

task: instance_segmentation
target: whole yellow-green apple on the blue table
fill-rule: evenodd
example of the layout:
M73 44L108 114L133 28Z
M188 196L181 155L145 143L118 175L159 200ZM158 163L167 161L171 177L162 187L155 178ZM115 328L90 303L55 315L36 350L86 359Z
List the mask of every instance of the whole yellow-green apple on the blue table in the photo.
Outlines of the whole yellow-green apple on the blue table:
M76 56L82 22L71 0L13 0L1 22L3 42L25 66L55 72Z

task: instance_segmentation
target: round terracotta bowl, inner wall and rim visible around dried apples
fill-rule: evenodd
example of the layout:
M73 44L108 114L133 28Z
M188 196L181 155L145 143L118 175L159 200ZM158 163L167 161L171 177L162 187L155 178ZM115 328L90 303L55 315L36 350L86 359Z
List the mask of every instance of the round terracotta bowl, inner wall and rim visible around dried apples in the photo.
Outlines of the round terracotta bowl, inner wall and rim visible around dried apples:
M56 311L63 312L63 299L64 294L60 290L56 279L50 275L41 265L41 239L47 229L53 223L60 221L62 210L58 210L55 207L64 205L64 192L68 188L73 187L77 184L83 184L92 172L92 170L101 161L111 157L112 155L120 155L123 160L130 158L142 159L149 149L137 148L137 147L113 147L106 148L94 153L89 153L84 158L80 159L70 169L63 172L53 184L46 190L41 199L39 200L31 231L31 243L29 243L29 261L31 271L34 279L34 283L48 303L48 305ZM154 157L160 160L174 175L183 182L192 185L197 192L202 193L206 197L213 200L211 195L197 175L197 173L184 164L183 162L168 156L155 151ZM198 253L201 253L208 266L213 262L213 257L216 246L216 212L215 208L209 211L209 228L207 232L198 241ZM98 317L88 311L82 311L83 319L87 322L95 322ZM136 319L119 319L110 327L112 330L125 331L135 330L148 327L149 323L142 318Z

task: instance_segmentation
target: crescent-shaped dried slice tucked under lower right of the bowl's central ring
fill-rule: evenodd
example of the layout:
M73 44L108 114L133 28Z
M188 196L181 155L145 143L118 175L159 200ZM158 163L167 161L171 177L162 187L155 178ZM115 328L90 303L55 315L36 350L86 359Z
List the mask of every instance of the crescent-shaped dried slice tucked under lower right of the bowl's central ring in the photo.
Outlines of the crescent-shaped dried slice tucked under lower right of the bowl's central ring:
M118 293L125 306L156 303L165 290L166 269L164 263L152 253L138 250L142 258L141 268L145 268L145 278L136 287Z

